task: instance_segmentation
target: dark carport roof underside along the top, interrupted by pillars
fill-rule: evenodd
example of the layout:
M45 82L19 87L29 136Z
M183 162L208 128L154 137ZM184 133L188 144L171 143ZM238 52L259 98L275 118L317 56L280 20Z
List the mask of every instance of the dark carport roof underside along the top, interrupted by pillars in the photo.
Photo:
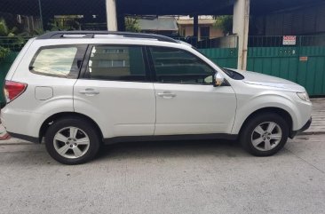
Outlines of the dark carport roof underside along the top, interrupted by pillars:
M233 14L235 0L119 0L119 14L136 15L223 15ZM250 0L250 14L266 15L279 10L307 7L324 0ZM98 14L106 19L105 0L44 0L44 16ZM39 15L38 0L1 0L0 12L22 15Z

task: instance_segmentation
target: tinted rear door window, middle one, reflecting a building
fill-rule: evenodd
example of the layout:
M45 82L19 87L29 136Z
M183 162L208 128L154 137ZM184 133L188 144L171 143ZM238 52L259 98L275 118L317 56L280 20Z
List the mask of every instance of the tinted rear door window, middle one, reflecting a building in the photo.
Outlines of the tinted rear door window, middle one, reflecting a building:
M147 80L142 47L93 46L86 77L117 81Z

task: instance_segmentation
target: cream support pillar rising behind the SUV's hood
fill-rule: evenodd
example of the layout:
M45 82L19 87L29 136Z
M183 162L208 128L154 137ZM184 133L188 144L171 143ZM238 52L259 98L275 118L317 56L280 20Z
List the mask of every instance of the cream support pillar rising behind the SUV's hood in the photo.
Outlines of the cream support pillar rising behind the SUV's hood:
M246 70L250 24L250 0L234 3L233 33L238 36L238 69Z

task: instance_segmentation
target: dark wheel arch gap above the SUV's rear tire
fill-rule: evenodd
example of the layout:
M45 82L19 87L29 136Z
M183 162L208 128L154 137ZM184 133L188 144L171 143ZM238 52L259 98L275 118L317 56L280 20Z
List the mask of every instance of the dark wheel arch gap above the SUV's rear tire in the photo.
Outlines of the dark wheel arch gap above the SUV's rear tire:
M44 121L44 123L42 123L41 128L39 130L39 134L38 134L39 142L42 141L47 129L51 126L51 124L53 122L55 122L56 120L59 120L60 118L67 118L67 117L83 118L84 120L87 120L88 122L92 123L94 125L95 129L99 132L100 139L103 139L103 133L100 130L98 123L96 123L91 117L89 117L87 115L80 114L80 113L76 113L76 112L60 112L60 113L49 116Z

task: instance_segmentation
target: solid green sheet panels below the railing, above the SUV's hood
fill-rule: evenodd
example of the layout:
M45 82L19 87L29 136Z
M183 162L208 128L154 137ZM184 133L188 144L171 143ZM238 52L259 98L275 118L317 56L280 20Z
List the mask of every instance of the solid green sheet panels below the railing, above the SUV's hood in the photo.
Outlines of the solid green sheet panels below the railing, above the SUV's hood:
M325 46L250 47L247 69L303 85L325 95Z

